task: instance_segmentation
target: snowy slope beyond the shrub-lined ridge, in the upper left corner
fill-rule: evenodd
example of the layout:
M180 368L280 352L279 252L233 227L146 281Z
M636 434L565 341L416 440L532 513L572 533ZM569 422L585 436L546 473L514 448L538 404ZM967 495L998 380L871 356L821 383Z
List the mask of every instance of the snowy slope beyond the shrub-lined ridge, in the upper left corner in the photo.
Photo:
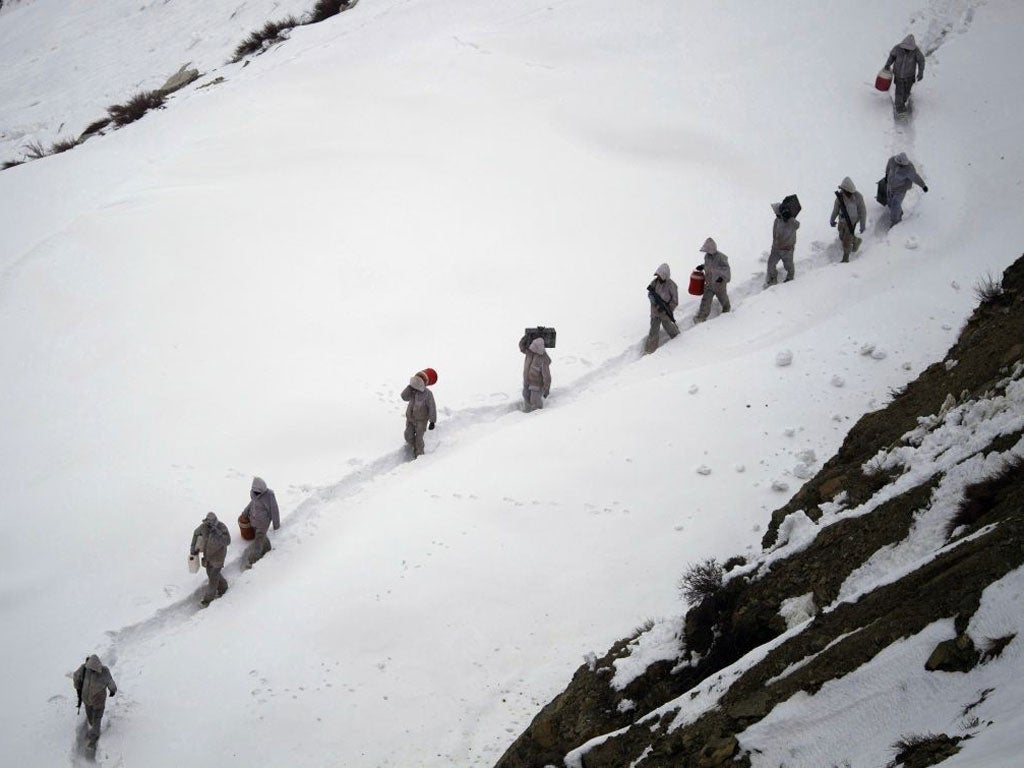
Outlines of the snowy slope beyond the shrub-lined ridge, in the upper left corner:
M19 0L0 10L0 161L26 144L78 136L180 67L225 67L269 19L299 16L312 0ZM212 78L211 78L212 79Z

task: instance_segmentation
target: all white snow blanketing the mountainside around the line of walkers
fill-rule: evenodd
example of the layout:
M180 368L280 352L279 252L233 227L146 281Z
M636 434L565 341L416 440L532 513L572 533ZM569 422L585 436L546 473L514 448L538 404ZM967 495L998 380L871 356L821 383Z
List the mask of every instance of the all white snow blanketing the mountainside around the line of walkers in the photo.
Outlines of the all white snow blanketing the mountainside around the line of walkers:
M1015 0L865 0L843 24L798 0L362 0L222 63L311 5L0 10L0 160L206 74L0 172L10 765L80 762L67 676L91 652L120 686L100 765L493 765L582 653L681 610L687 562L756 553L795 452L831 456L948 348L958 286L1019 255ZM907 32L938 47L895 127L870 80ZM838 265L831 190L870 197L899 151L930 193L891 233L869 203ZM791 191L798 276L762 292ZM686 275L709 236L734 311L692 327L687 297L641 357L651 272ZM516 341L538 324L554 388L527 415ZM437 429L406 463L398 392L426 366ZM236 536L200 612L191 529L211 509L233 529L254 474L274 549L242 574ZM1019 590L992 594L1005 616ZM993 718L1020 711L1019 647L991 665ZM956 765L1010 765L1020 730Z

